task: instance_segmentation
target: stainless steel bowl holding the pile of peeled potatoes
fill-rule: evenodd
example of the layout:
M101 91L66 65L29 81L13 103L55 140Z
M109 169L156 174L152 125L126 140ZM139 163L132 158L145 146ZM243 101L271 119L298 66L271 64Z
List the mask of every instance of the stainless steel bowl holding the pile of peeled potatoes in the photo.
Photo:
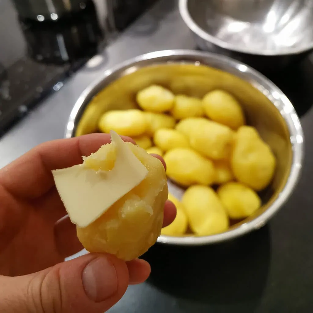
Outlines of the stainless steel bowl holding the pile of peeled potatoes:
M97 131L101 114L110 109L136 107L136 93L151 84L174 93L202 97L220 88L233 94L243 106L247 121L255 126L277 158L275 177L263 192L258 212L213 236L160 236L158 242L178 245L211 244L262 227L290 197L300 175L303 133L299 118L287 97L262 74L228 57L192 50L152 52L107 70L80 95L70 114L65 137ZM169 182L176 196L182 189Z

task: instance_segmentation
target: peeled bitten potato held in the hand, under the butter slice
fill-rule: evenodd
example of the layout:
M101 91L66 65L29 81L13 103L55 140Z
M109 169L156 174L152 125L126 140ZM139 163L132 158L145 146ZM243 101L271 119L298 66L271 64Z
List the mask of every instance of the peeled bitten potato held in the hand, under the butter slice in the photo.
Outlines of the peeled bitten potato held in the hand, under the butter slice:
M77 236L88 251L114 254L126 261L145 253L156 242L168 194L162 162L139 146L127 144L148 175L90 225L77 227ZM113 168L115 147L109 144L102 148L85 159L86 166L95 170Z

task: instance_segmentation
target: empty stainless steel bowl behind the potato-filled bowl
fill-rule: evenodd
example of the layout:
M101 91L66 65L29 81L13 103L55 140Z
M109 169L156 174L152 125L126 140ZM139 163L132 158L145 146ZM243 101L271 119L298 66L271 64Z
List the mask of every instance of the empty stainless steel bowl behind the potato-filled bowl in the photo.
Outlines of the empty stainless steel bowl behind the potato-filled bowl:
M179 10L201 49L261 70L285 68L313 49L311 0L180 0Z

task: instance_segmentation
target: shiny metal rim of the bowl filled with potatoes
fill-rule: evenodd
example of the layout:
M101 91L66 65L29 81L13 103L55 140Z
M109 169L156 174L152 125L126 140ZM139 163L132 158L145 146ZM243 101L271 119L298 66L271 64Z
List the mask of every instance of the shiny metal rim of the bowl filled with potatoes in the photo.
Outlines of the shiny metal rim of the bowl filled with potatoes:
M295 186L297 185L300 173L302 162L304 158L304 135L302 131L302 127L300 124L300 120L298 115L295 112L294 107L292 106L290 100L285 96L285 94L268 78L266 78L263 74L259 73L255 69L249 67L248 65L239 62L237 60L231 59L229 57L209 53L209 52L200 52L195 50L162 50L162 51L155 51L146 54L142 54L135 58L129 59L111 69L106 70L97 80L91 83L79 96L78 100L76 101L70 116L69 120L65 129L65 138L74 137L74 129L75 129L75 119L80 110L87 104L87 98L94 92L94 90L103 83L110 75L115 74L116 72L123 72L125 69L135 66L140 61L150 60L151 64L149 65L156 65L160 63L155 63L153 60L157 60L159 58L166 58L171 56L180 56L182 57L181 62L183 62L184 57L209 57L214 59L215 61L220 62L220 64L227 64L229 68L236 69L238 74L245 74L246 78L253 79L250 83L254 85L258 89L258 87L266 87L267 90L271 90L269 94L275 93L276 103L274 104L272 100L270 100L273 105L280 111L280 114L283 116L288 130L290 132L290 141L292 146L293 152L293 159L290 168L290 174L287 179L287 182L280 192L279 196L275 199L272 205L264 211L261 215L254 218L252 221L244 223L237 228L228 230L224 233L219 233L216 235L210 236L188 236L188 237L172 237L172 236L164 236L161 235L157 242L162 244L174 244L174 245L204 245L204 244L213 244L218 243L230 239L234 239L236 237L242 236L246 233L249 233L253 230L259 229L263 227L267 221L278 212L278 210L286 203L286 201L290 198ZM175 61L176 63L180 63L179 60ZM163 62L164 63L164 62ZM144 65L144 66L149 66ZM240 66L246 67L244 73L242 73L239 68ZM141 67L140 67L141 68ZM227 71L227 70L224 70ZM235 74L234 74L235 75ZM239 78L243 79L242 77L238 76ZM260 89L259 89L260 90ZM267 98L268 95L267 95ZM86 103L87 102L87 103ZM283 112L283 114L282 114Z

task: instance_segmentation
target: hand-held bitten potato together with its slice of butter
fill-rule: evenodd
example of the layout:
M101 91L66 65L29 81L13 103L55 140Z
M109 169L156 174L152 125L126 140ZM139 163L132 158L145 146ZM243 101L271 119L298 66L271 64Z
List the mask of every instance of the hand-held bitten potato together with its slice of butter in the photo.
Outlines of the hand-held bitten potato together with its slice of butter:
M131 260L161 233L167 179L160 160L110 134L112 142L82 164L52 173L83 246Z

